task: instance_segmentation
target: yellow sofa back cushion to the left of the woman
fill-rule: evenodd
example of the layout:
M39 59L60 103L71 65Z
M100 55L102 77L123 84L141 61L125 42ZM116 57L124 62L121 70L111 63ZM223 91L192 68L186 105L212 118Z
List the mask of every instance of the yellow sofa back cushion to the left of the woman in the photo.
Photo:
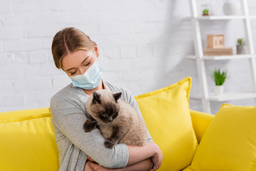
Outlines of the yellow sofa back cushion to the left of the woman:
M18 116L12 112L10 116ZM0 113L0 116L6 113ZM0 170L59 169L59 152L50 113L30 114L32 116L27 113L22 114L25 117L14 119L4 117L7 119L0 121Z

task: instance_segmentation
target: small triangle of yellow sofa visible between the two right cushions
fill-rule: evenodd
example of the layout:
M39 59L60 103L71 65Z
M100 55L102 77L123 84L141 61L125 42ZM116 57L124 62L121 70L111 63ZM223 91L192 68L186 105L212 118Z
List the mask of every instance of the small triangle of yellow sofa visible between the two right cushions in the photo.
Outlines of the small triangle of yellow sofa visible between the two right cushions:
M189 111L190 111L190 116L193 123L193 128L195 130L195 136L199 143L201 142L202 136L207 130L209 123L211 123L211 121L213 120L214 115L204 113L201 111L193 111L193 110L189 110Z

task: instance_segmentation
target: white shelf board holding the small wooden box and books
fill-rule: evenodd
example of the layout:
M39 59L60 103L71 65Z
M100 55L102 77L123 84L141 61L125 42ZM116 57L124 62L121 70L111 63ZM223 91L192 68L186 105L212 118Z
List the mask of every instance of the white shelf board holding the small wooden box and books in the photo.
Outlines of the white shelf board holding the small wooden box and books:
M188 55L188 59L195 60L195 55ZM234 55L217 55L217 56L203 56L203 60L237 60L255 58L256 54L234 54Z

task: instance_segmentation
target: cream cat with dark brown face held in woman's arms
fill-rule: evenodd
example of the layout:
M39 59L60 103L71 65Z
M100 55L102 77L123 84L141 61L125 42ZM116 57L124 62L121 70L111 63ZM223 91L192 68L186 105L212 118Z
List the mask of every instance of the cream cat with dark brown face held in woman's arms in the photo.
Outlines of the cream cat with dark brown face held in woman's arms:
M84 123L84 130L90 132L99 128L106 138L105 147L112 149L118 142L133 146L147 143L147 129L138 112L122 99L121 92L106 90L93 92L86 102L90 114Z

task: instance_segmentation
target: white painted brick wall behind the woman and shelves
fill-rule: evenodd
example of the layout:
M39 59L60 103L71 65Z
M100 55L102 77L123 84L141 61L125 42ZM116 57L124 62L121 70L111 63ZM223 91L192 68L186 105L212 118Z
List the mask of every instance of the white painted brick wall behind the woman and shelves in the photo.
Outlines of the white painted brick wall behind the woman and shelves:
M226 1L211 3L221 15ZM256 15L256 2L248 0ZM71 81L56 69L51 41L59 30L76 27L100 48L103 78L127 87L134 96L157 90L191 76L191 93L200 92L194 60L189 0L1 0L0 1L0 111L48 107L49 100ZM234 47L244 36L241 21L201 22L206 35L225 34L226 46ZM256 41L256 22L252 21ZM256 43L254 43L256 44ZM207 70L228 68L226 91L253 91L247 60L207 61ZM214 82L208 78L209 91ZM254 105L253 99L228 101ZM213 113L221 103L211 103ZM200 100L190 99L190 108L202 111Z

